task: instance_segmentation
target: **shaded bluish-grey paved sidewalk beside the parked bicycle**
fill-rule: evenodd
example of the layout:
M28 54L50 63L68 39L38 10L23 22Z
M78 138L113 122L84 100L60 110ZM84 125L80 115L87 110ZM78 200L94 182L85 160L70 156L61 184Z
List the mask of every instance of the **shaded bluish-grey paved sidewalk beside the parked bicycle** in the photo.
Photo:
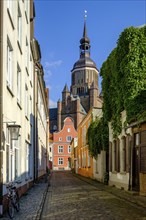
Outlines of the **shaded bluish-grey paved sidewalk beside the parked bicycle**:
M20 211L15 212L14 220L39 220L45 201L46 193L49 187L50 176L35 183L25 195L20 198ZM2 220L10 219L7 213L4 213Z

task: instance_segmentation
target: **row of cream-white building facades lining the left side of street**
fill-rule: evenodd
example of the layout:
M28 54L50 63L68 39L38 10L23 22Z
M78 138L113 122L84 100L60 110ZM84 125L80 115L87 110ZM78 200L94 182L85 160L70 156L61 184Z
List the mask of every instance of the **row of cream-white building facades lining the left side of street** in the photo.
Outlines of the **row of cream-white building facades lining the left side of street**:
M4 0L0 6L0 198L3 196L4 200L6 183L18 181L17 187L21 187L23 194L46 172L48 96L43 75L34 84L36 60L30 44L34 30L33 0ZM12 140L10 134L9 126L14 124L20 126L18 140Z

